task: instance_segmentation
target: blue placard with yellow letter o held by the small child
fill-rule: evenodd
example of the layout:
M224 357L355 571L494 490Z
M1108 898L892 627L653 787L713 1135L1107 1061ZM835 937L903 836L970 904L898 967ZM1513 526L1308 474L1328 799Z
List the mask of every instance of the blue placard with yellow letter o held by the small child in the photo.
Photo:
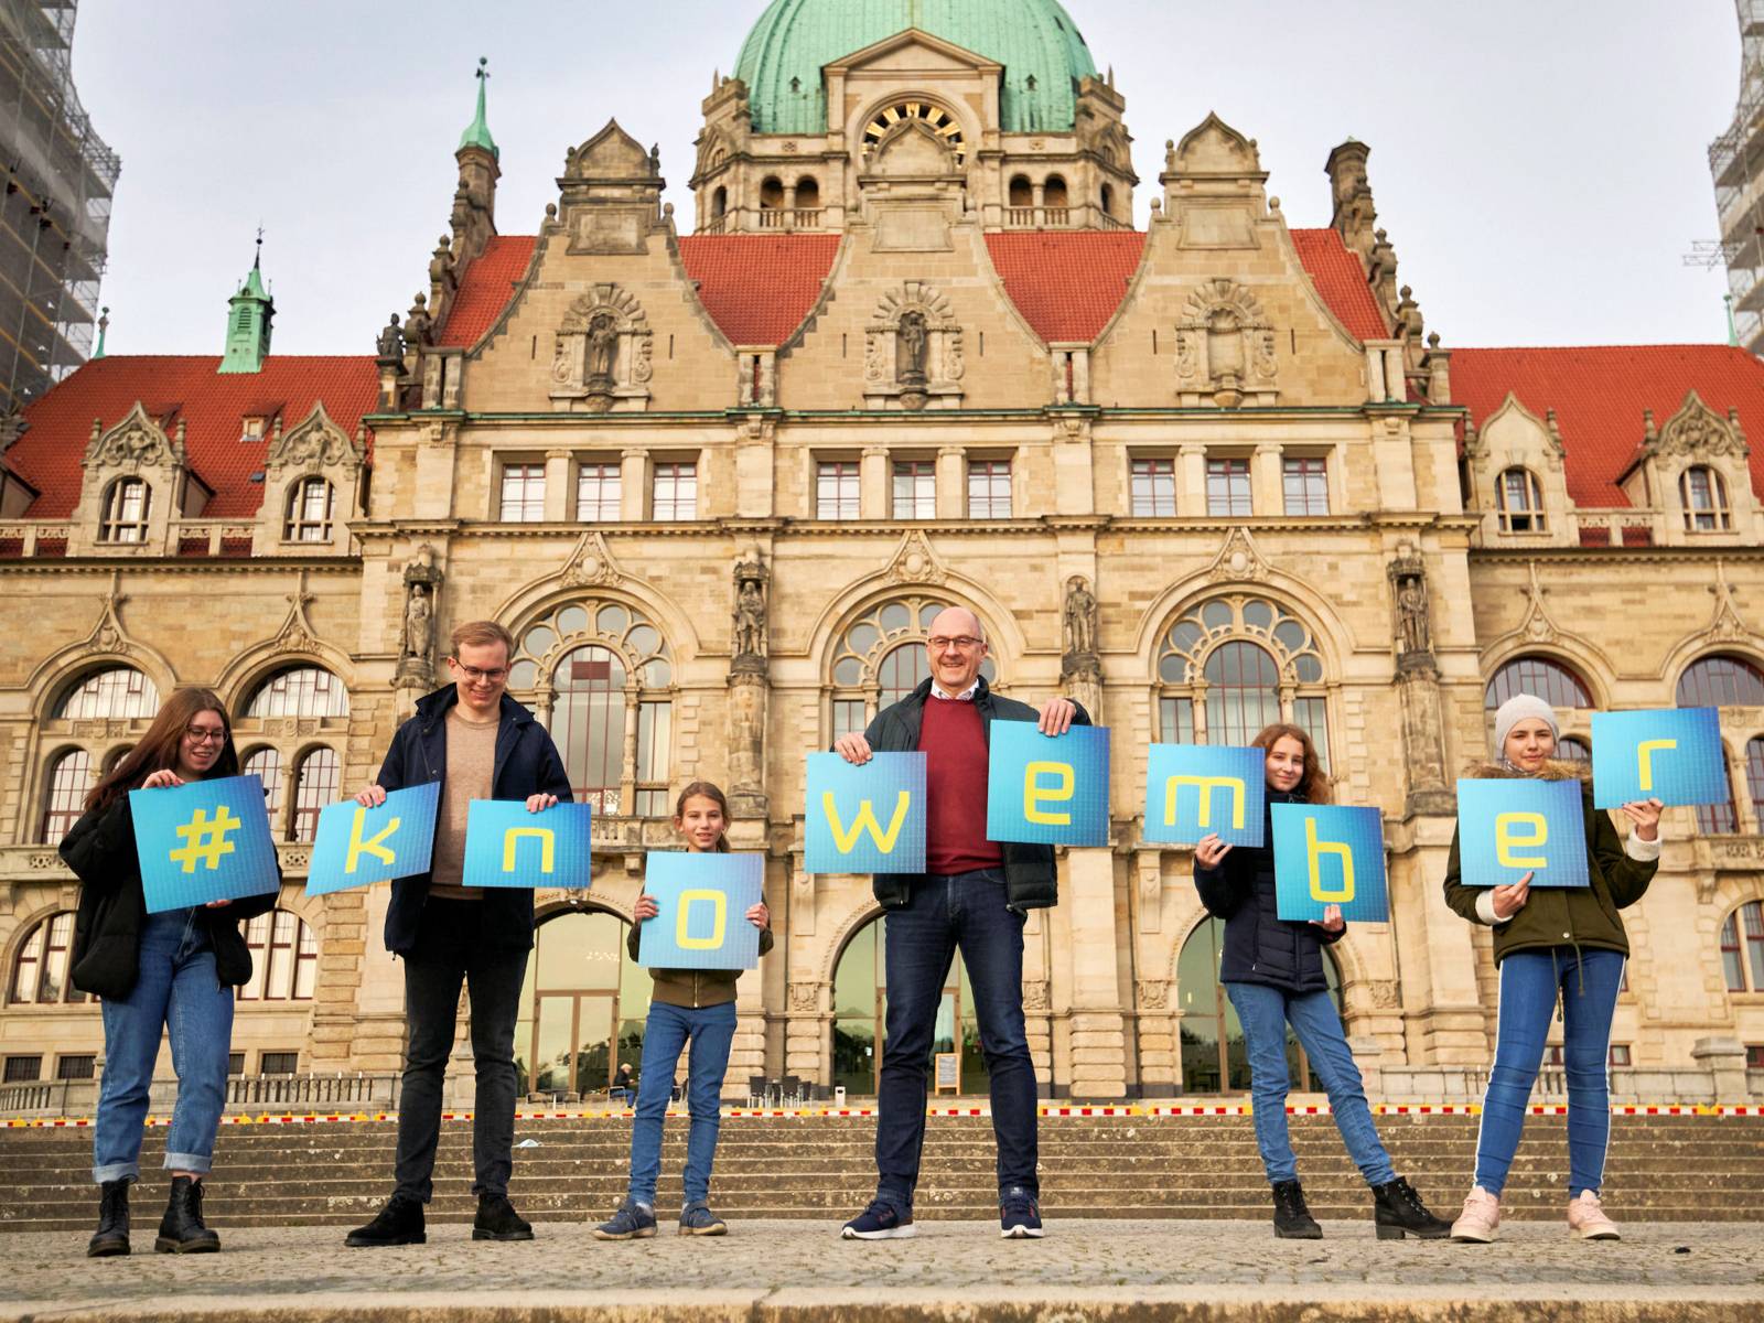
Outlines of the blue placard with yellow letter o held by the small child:
M644 891L656 917L637 930L637 963L646 968L753 968L760 930L748 910L760 903L757 854L651 854Z

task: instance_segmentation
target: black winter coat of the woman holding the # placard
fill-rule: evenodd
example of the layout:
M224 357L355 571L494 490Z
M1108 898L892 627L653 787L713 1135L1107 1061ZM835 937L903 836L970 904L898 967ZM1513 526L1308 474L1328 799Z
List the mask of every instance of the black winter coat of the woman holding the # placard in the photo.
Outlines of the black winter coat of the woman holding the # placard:
M88 810L62 838L60 854L79 878L72 983L79 991L122 1000L141 972L141 926L146 923L129 796L118 796L109 808ZM273 908L275 896L272 891L196 910L196 921L208 928L215 975L224 986L250 983L250 947L238 931L238 921Z

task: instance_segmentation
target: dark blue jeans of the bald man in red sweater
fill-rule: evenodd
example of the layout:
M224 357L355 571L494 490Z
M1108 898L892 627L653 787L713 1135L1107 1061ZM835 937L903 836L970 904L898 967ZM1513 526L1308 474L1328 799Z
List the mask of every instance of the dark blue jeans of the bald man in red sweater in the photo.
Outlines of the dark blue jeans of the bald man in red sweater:
M887 1037L877 1090L877 1198L900 1212L912 1208L931 1035L958 947L991 1073L998 1189L1021 1185L1039 1194L1035 1064L1023 1030L1023 914L1005 907L1004 870L914 878L907 903L882 924Z

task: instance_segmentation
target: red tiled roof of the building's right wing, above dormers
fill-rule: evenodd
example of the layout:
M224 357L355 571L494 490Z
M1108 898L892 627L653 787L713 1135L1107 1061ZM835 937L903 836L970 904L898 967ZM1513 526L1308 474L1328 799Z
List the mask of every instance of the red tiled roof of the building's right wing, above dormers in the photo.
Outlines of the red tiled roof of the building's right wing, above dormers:
M1556 411L1568 452L1568 496L1582 506L1626 506L1618 478L1655 425L1697 395L1720 415L1739 409L1752 441L1752 487L1764 492L1764 362L1725 344L1600 344L1565 349L1454 349L1452 402L1480 427L1512 392L1538 418Z

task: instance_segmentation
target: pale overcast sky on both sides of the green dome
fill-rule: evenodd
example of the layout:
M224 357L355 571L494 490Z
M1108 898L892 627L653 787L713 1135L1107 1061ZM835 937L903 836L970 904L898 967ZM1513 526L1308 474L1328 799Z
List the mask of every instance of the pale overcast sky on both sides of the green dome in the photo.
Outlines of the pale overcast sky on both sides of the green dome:
M818 0L840 4L841 0ZM977 0L975 0L977 2ZM111 353L220 353L265 226L279 353L370 353L446 228L490 58L497 228L529 235L564 148L617 116L686 178L699 102L764 0L85 0L74 76L122 155ZM1379 224L1448 346L1708 342L1708 143L1734 113L1729 0L1067 0L1127 99L1143 226L1166 138L1208 109L1256 138L1295 226L1323 161L1372 148Z

